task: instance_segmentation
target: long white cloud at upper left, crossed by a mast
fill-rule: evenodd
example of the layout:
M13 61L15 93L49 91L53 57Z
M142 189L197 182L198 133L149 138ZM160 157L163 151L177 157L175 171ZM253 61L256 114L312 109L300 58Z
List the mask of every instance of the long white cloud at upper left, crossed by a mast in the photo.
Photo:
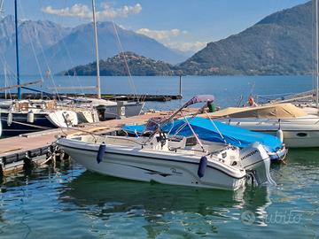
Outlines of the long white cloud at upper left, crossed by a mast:
M96 15L98 20L127 18L129 15L138 14L141 11L141 4L136 4L133 6L124 5L121 8L113 8L111 5L104 3L102 4L102 10L97 11ZM66 7L62 9L54 9L51 6L47 6L42 9L42 12L62 17L92 19L91 8L84 4L74 4L72 7Z

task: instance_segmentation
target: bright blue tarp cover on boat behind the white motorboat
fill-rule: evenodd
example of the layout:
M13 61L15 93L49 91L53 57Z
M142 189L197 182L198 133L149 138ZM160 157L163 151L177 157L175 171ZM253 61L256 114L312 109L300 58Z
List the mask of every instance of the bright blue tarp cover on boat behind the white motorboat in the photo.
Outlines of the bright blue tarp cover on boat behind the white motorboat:
M263 144L269 152L276 152L282 148L283 143L281 143L281 141L273 135L266 135L240 127L233 127L215 120L213 121L214 124L212 124L211 120L200 117L195 117L193 119L188 118L188 120L190 121L191 127L201 140L224 143L224 140L222 139L223 136L226 143L230 143L231 145L239 148L245 148L249 144L255 142ZM167 124L162 129L165 132L170 132L170 135L175 135L177 130L182 127L185 122L185 120L175 120L174 123ZM218 130L214 127L214 125L218 128ZM138 135L144 132L144 128L144 125L123 127L123 129L128 133ZM221 132L222 136L218 131ZM176 135L191 136L191 128L186 125Z

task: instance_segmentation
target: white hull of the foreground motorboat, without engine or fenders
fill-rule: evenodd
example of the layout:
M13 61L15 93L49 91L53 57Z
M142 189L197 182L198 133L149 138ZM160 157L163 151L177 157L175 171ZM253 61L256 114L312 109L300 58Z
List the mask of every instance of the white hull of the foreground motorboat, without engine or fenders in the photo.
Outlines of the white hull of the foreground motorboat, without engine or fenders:
M59 140L62 150L90 171L134 181L156 181L164 184L210 189L236 190L245 185L245 173L223 170L208 160L206 173L198 177L199 160L156 154L150 150L114 150L106 146L105 156L97 163L97 147L78 146ZM81 146L80 146L81 145Z

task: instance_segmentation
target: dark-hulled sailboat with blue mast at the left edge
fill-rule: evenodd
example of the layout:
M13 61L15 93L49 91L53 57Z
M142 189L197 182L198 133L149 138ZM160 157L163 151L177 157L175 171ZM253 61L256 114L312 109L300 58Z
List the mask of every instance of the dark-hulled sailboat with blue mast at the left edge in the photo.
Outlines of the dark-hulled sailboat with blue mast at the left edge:
M78 115L84 114L88 109L71 109L56 100L22 100L21 89L29 89L43 80L21 83L19 77L19 37L18 37L18 11L17 0L14 1L15 12L15 48L17 66L17 85L4 87L18 89L17 100L4 100L0 104L0 123L2 131L0 136L13 136L41 131L53 127L72 127L79 123ZM35 89L30 89L37 91Z

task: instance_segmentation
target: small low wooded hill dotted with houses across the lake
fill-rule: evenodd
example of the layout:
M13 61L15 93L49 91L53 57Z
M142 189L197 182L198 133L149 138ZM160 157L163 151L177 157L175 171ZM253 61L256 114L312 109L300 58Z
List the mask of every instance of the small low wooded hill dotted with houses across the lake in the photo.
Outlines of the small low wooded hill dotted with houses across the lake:
M100 60L100 74L107 76L119 76L128 75L126 67L128 64L129 72L132 75L179 75L180 72L176 66L164 63L160 60L153 60L151 58L145 58L139 56L133 52L124 52L114 56L113 58L107 58L106 60ZM96 75L97 66L96 62L89 63L85 66L76 66L66 72L64 75Z

